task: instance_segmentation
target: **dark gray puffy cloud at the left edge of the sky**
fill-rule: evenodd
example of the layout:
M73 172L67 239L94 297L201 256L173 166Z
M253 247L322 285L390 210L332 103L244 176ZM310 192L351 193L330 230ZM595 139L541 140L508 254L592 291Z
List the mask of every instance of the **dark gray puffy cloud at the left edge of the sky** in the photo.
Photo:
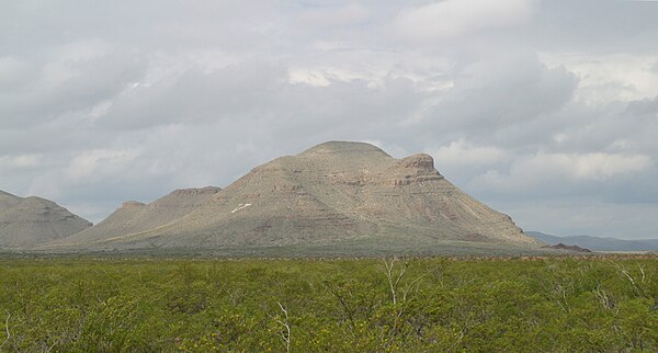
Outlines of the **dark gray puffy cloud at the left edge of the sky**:
M63 115L93 107L144 75L145 65L102 44L75 43L60 48L48 62L24 64L22 81L0 95L4 128L50 123Z

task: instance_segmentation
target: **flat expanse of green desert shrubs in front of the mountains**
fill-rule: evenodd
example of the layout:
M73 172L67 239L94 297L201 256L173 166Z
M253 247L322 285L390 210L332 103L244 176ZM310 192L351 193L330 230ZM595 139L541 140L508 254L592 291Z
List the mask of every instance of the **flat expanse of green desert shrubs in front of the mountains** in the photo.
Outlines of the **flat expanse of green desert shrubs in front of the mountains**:
M0 351L658 351L658 259L0 260Z

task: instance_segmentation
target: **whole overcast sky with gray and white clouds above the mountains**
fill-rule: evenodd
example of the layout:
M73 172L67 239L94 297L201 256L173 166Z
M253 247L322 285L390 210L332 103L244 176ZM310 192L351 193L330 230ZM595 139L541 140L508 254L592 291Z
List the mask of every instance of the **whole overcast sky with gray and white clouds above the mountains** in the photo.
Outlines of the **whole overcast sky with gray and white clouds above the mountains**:
M92 221L331 139L524 229L658 237L658 2L2 1L0 190Z

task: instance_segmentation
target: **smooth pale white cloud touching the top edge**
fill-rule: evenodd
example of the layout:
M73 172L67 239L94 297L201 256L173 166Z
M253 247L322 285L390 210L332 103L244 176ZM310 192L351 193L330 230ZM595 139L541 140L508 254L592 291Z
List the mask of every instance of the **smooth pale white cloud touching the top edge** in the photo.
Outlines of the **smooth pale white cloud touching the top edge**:
M394 26L411 39L442 39L513 26L535 12L534 0L445 0L402 10Z

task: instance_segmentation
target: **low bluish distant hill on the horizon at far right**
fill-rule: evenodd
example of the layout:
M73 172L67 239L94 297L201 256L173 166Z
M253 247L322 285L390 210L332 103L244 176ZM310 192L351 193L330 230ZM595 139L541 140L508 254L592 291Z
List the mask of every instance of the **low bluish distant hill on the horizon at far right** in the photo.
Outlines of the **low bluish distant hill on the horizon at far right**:
M578 246L594 251L649 251L658 250L658 239L625 240L590 236L557 237L538 231L526 231L526 235L548 244L559 242Z

